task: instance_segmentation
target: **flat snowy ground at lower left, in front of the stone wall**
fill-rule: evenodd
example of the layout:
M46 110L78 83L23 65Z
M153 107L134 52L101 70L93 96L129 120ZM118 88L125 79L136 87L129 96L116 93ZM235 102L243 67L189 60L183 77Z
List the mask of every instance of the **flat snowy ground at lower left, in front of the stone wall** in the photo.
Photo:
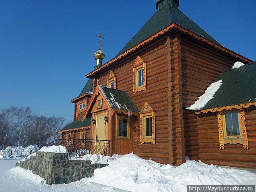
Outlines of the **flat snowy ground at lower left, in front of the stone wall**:
M92 185L87 178L71 184L50 186L32 172L14 168L16 162L17 160L0 160L0 192L115 192L112 188Z

